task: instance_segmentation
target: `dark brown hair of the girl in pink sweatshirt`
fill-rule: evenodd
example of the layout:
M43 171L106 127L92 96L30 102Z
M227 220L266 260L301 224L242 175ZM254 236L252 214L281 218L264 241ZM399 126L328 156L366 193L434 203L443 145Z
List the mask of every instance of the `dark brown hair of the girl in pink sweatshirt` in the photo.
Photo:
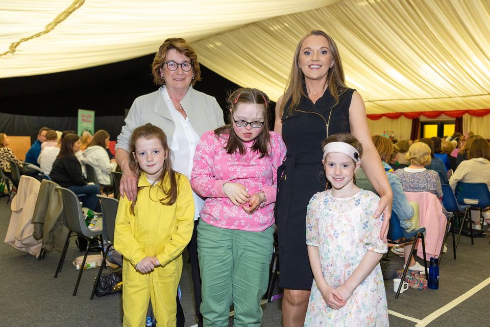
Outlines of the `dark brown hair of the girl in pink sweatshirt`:
M228 141L226 143L226 152L228 154L233 154L238 149L238 152L241 155L246 153L245 146L243 145L243 141L236 135L235 130L233 129L233 125L235 124L233 120L233 113L236 111L236 108L239 104L255 104L264 108L264 125L261 127L262 131L260 134L254 139L254 144L252 145L252 151L260 152L260 158L269 155L269 139L271 138L269 135L269 127L267 123L267 111L269 98L267 95L258 90L256 88L239 88L232 92L228 97L228 105L229 105L229 113L228 120L230 124L219 127L214 130L214 134L216 137L220 137L223 134L228 134Z

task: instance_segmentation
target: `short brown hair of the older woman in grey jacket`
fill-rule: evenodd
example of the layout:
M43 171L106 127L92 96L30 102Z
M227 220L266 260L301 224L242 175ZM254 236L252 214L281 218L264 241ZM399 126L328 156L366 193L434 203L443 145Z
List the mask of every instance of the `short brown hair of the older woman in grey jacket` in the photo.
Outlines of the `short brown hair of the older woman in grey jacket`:
M157 85L164 85L165 80L160 76L160 68L164 64L167 58L167 51L170 49L177 50L178 53L186 56L190 59L190 63L192 64L192 73L194 74L194 78L190 82L190 84L194 85L195 82L201 80L201 67L199 66L198 54L195 53L190 43L184 40L181 37L173 37L166 39L157 53L155 54L155 58L152 63L152 73L153 73L153 81Z

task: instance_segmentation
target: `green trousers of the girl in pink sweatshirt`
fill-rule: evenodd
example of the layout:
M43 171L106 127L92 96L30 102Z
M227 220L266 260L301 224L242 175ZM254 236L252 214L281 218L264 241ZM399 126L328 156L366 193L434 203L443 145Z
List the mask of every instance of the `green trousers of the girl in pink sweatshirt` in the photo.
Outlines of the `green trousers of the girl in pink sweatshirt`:
M201 314L205 327L260 326L260 301L267 290L274 227L263 231L219 228L201 220L198 257L202 279Z

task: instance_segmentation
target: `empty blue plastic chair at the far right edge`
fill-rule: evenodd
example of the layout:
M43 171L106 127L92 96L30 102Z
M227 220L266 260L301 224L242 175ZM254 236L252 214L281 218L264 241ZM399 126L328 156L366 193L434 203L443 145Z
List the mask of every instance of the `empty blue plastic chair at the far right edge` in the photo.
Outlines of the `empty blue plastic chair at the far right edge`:
M460 181L456 184L456 191L454 193L459 204L468 204L471 208L479 209L480 217L481 210L490 206L490 192L488 192L488 186L485 183L467 183ZM471 223L470 228L473 236ZM473 242L471 244L473 244Z

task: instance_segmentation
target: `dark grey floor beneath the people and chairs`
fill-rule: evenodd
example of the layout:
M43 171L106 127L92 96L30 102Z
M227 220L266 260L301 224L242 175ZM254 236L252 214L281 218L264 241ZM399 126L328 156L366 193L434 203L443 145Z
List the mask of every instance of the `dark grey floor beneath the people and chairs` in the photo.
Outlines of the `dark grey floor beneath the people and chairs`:
M10 220L10 208L6 198L0 199L0 237L5 238ZM448 312L438 316L429 324L419 326L490 326L490 245L488 238L470 239L462 237L458 248L458 259L452 253L443 257L440 267L439 290L418 291L409 289L395 299L393 282L385 281L388 309L423 320L447 303L468 292L488 279L485 287L462 301ZM451 238L448 238L451 251ZM121 297L110 295L89 299L97 269L84 271L76 297L71 296L78 271L70 261L80 255L74 242L66 255L63 271L53 278L60 254L48 253L43 261L20 252L5 243L0 244L0 327L2 326L120 326ZM193 296L187 253L184 252L182 273L182 305L186 326L195 324L193 318ZM402 266L402 259L391 254L389 259ZM110 268L108 268L110 269ZM281 326L281 300L263 306L263 326ZM415 326L417 323L389 315L391 326Z

